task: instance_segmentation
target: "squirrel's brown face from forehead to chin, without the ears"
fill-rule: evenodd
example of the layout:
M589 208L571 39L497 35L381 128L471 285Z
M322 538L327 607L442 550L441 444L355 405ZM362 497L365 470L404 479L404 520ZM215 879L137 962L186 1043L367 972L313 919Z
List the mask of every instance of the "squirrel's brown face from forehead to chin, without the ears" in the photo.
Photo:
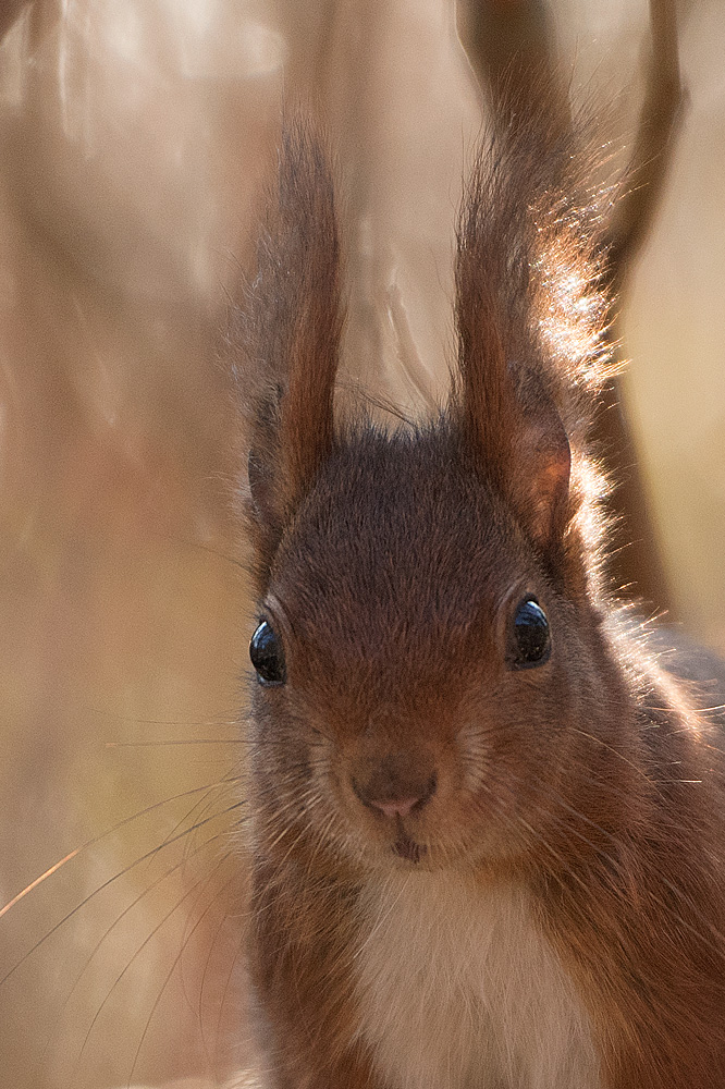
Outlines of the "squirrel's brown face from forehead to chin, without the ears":
M566 599L448 423L340 445L260 616L278 673L255 695L255 778L310 854L511 865L556 839L591 749L578 726L601 715L598 617Z

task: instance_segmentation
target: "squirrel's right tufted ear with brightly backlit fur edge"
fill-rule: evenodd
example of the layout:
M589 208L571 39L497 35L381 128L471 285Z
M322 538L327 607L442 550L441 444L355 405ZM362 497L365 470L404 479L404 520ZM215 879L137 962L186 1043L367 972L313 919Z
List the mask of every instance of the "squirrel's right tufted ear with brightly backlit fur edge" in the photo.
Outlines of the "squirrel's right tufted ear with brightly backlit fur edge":
M464 195L453 409L487 479L545 551L563 541L579 502L572 450L586 449L604 372L606 194L589 187L579 134L546 129L545 110L529 113L512 107Z

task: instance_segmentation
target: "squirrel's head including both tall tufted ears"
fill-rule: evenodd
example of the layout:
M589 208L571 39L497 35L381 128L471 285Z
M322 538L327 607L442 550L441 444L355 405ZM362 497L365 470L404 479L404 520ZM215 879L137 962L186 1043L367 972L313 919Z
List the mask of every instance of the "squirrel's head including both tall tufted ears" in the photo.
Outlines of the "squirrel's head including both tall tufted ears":
M258 806L316 865L508 865L556 843L567 807L600 827L622 809L587 450L603 198L540 120L491 135L458 223L448 404L385 433L334 419L327 163L286 130L243 322Z

